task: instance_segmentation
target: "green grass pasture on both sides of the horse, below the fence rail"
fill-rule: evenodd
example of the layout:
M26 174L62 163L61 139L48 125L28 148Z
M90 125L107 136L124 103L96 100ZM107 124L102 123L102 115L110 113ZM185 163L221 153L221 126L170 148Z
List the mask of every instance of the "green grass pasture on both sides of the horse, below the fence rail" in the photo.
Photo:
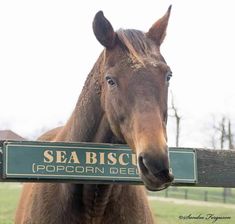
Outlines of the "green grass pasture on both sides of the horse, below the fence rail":
M194 193L200 188L194 188ZM16 209L19 193L21 190L20 184L1 183L0 184L0 224L12 224L14 211ZM213 190L213 188L212 188ZM159 193L158 193L159 194ZM161 192L162 194L162 192ZM198 194L198 195L199 195ZM198 223L218 223L218 224L232 224L235 221L234 208L218 206L205 206L192 204L178 204L177 202L168 202L160 200L150 201L155 220L158 224L198 224ZM195 219L190 219L195 217ZM214 221L212 218L206 219L208 214L219 217L231 217L231 219ZM181 219L180 219L181 216ZM185 219L183 219L185 217ZM202 217L200 220L197 217Z

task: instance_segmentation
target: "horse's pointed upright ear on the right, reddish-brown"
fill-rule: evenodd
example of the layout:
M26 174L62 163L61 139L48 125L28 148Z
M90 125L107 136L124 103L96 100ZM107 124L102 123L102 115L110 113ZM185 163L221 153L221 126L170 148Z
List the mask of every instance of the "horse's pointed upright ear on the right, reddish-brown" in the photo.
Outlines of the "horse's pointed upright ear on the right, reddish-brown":
M166 14L157 22L155 22L147 33L147 36L152 40L154 40L158 46L162 44L166 36L166 29L170 13L171 13L171 5L169 6Z

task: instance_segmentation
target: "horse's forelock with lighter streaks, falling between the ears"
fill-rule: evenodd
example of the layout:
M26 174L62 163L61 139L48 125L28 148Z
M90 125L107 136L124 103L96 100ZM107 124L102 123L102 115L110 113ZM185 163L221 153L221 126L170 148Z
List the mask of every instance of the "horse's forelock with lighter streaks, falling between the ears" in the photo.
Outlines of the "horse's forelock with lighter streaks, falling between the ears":
M155 61L159 57L159 49L149 41L145 33L134 29L119 29L116 34L133 62L144 66L146 60Z

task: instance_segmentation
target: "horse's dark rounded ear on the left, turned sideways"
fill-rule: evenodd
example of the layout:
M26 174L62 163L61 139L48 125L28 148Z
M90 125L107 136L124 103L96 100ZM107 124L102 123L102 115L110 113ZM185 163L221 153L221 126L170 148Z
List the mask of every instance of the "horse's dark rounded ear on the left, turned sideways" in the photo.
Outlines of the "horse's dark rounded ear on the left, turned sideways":
M104 17L102 11L96 13L93 20L93 31L97 40L106 48L113 48L116 42L116 33L111 23Z

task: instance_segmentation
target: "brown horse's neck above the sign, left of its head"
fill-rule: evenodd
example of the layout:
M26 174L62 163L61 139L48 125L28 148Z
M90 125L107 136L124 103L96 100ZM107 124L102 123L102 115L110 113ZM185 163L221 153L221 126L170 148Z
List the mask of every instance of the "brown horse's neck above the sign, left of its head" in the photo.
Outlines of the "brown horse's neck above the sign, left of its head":
M112 132L101 107L102 53L91 70L72 116L56 136L57 141L110 142Z

